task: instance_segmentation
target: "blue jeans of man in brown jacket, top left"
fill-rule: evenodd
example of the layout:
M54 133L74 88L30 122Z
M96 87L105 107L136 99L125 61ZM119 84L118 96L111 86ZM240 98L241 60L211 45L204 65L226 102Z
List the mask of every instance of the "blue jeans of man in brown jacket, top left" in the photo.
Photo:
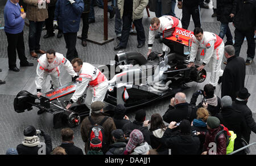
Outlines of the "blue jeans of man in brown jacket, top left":
M30 29L28 34L28 46L30 51L40 49L40 38L43 29L44 22L32 22L30 21Z

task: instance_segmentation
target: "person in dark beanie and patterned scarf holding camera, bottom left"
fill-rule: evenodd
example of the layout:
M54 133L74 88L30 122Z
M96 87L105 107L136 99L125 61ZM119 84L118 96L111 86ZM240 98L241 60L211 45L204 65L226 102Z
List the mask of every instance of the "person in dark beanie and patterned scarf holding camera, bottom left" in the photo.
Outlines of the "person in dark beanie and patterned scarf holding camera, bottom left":
M27 126L24 131L24 140L18 144L16 150L19 155L49 155L52 151L51 137L43 130L36 130L34 126ZM39 135L44 137L44 143L40 142Z

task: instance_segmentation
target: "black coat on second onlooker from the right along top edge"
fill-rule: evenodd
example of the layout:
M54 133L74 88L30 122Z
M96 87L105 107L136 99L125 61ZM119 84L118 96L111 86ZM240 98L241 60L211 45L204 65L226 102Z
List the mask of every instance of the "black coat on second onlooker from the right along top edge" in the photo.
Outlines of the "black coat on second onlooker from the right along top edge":
M217 0L217 20L221 23L231 23L233 18L230 18L230 14L234 14L236 0ZM234 9L233 9L234 8Z

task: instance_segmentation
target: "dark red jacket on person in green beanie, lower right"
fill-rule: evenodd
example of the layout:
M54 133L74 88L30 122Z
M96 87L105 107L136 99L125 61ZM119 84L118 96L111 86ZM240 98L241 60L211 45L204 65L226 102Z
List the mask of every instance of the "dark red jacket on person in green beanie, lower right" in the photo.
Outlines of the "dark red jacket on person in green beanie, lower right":
M216 151L213 151L213 146L209 146L210 143L214 143L214 139L218 131L221 131L221 127L216 129L210 129L208 132L200 132L205 135L205 142L203 151L207 151L207 154L213 152L213 155L226 155L226 137L224 134L221 134L217 139Z

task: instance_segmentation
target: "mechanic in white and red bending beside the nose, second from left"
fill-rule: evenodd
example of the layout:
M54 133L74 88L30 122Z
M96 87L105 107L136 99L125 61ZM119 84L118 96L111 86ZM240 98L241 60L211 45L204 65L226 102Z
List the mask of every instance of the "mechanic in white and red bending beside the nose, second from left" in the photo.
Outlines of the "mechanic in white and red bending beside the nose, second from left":
M69 109L74 102L77 102L88 85L85 104L90 109L90 104L94 101L104 100L109 86L108 79L97 67L94 67L90 63L82 62L80 58L74 58L71 63L73 70L79 75L79 84L77 84L77 89L73 93L66 109Z

